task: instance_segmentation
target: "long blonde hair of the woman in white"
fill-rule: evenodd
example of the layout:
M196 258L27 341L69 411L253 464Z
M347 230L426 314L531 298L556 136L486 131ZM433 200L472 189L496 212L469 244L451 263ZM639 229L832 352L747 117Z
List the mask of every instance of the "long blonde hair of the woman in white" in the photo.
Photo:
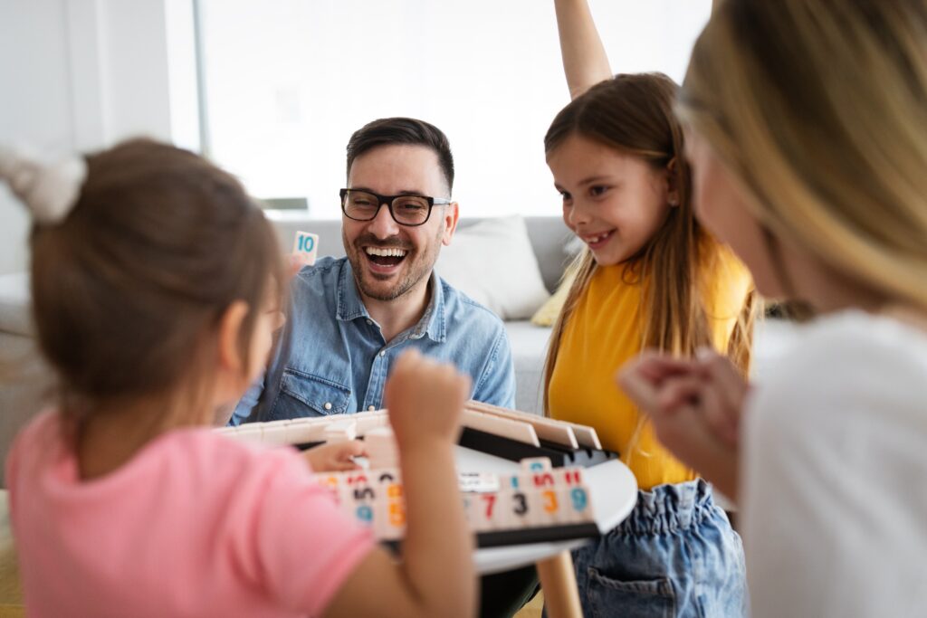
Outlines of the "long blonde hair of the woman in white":
M923 2L727 0L695 44L678 106L774 238L921 307L925 41Z

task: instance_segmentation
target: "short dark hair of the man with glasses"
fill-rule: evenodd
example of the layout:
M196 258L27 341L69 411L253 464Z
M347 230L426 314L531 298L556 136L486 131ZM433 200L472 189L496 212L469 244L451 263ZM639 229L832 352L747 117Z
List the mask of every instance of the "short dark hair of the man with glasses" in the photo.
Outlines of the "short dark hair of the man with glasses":
M363 125L348 141L348 174L354 159L381 145L424 145L438 155L438 163L448 182L454 185L454 158L448 136L425 120L413 118L381 118Z

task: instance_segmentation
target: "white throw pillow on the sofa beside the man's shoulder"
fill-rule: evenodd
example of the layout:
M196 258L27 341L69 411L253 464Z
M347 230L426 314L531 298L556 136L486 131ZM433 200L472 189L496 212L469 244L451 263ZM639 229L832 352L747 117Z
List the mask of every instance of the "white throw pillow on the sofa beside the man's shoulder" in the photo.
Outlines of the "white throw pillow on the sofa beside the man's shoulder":
M551 296L519 216L458 227L435 270L502 320L527 320Z

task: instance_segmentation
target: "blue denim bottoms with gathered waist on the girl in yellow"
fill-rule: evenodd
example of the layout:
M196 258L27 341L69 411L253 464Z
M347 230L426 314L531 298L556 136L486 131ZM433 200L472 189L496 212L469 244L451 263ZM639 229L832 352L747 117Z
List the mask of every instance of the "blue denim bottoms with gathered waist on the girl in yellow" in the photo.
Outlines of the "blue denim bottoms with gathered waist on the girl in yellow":
M628 519L573 552L587 618L740 618L741 537L698 479L638 492Z

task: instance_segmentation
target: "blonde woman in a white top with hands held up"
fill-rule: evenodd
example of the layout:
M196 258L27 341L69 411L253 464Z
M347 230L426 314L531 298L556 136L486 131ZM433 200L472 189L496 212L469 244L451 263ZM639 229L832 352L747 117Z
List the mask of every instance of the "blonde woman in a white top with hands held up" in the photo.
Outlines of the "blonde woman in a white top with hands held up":
M692 55L696 212L818 316L750 390L711 354L621 383L739 487L756 618L927 615L925 101L921 1L727 0Z

